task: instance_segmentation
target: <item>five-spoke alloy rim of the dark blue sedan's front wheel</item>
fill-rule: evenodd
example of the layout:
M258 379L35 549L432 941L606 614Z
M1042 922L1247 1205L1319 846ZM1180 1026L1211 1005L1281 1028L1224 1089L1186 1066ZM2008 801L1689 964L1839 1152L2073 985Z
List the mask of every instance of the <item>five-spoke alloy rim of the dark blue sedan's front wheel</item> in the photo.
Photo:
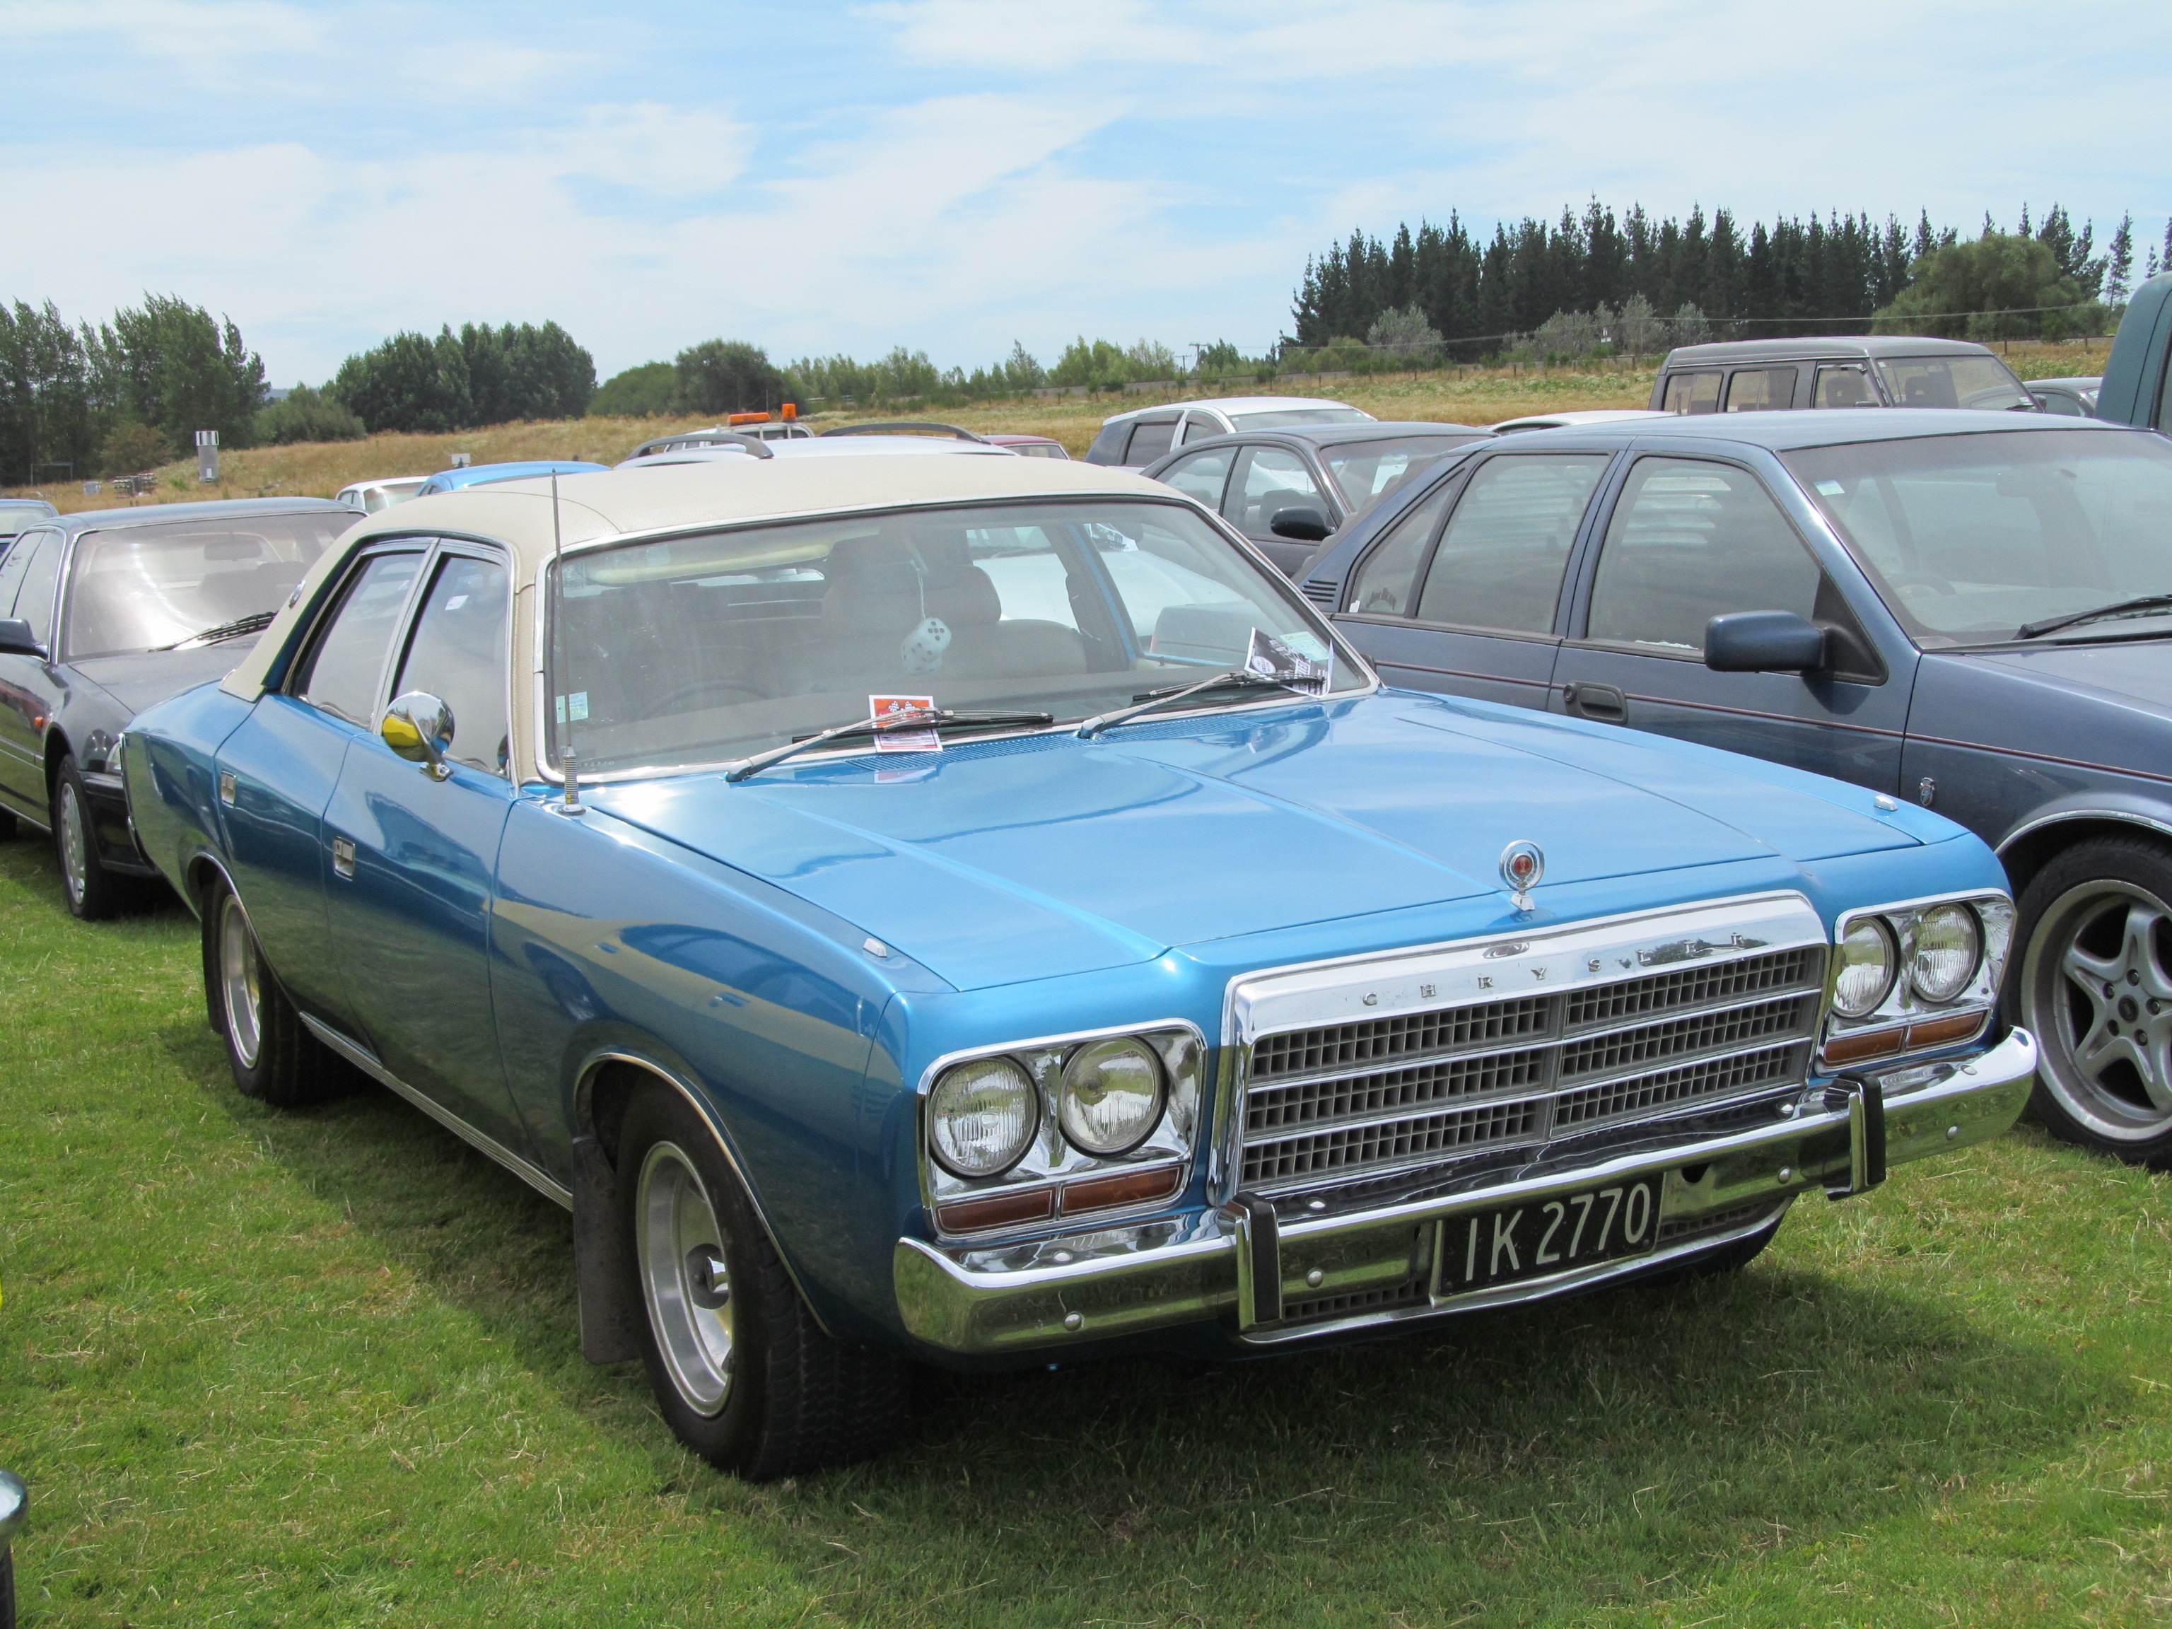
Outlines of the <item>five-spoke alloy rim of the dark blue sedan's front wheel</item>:
M2068 888L2029 938L2024 1023L2040 1077L2083 1129L2146 1142L2172 1129L2172 908L2131 882Z

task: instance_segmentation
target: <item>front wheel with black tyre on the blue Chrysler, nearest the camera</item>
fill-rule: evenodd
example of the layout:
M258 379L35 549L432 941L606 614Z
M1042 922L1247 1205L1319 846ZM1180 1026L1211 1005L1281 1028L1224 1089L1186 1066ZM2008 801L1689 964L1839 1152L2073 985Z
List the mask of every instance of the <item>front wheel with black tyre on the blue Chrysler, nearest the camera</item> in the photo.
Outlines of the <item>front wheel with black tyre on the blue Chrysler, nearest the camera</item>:
M678 1093L645 1086L628 1103L617 1190L626 1271L641 1286L641 1362L680 1442L747 1481L891 1444L912 1364L823 1334L708 1125Z

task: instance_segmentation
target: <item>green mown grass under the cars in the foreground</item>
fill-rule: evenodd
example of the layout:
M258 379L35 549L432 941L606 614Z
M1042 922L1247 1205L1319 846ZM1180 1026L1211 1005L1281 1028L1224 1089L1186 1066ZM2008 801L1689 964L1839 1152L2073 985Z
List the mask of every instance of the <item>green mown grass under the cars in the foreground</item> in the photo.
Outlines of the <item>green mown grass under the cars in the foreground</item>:
M1731 1281L1212 1373L940 1379L743 1488L573 1338L563 1212L382 1093L235 1095L178 906L0 845L24 1625L2172 1616L2168 1179L2022 1132Z

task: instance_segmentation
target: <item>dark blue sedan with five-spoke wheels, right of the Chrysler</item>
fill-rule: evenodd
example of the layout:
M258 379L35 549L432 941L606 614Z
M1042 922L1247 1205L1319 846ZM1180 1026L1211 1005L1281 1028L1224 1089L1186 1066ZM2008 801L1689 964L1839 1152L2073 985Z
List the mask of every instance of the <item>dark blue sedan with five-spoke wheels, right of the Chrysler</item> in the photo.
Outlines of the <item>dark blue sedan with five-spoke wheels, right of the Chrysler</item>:
M2172 445L1757 413L1486 443L1301 573L1390 684L1937 808L2020 895L2037 1112L2172 1166Z

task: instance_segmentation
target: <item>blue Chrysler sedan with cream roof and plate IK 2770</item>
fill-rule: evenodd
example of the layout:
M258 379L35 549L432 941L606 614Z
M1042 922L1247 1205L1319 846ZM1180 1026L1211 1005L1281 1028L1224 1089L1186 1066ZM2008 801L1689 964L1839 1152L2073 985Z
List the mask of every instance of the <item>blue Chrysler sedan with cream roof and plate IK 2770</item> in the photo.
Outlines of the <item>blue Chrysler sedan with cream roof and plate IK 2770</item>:
M1725 1271L2035 1069L1961 828L1384 689L1086 463L417 497L122 762L241 1090L358 1071L565 1203L584 1353L747 1477L914 1360Z

